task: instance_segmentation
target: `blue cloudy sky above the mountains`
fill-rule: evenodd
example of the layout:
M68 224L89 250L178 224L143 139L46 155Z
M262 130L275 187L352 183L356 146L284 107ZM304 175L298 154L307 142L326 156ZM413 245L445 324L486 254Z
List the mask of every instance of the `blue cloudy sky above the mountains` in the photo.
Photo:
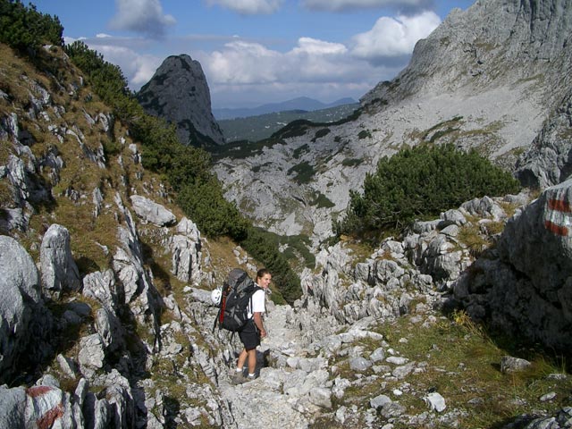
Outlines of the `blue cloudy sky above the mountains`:
M28 4L29 2L24 2ZM83 40L130 88L190 55L214 108L363 96L391 80L450 10L473 0L36 0L66 43Z

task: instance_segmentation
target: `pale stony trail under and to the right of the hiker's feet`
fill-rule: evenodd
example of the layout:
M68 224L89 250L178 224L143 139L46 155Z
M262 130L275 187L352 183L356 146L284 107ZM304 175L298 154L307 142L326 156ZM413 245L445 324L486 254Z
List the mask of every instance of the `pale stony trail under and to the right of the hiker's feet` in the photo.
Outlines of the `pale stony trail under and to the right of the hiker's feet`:
M424 315L411 319L409 331L435 322L433 311L425 309ZM265 326L269 335L258 349L256 380L238 385L231 383L233 362L230 370L221 371L218 388L234 419L231 427L307 428L316 418L325 415L332 427L378 427L388 419L407 422L417 418L406 414L391 390L377 390L371 397L364 397L365 407L333 405L350 387L359 388L378 379L404 380L422 366L400 356L399 351L384 341L382 334L370 331L376 324L374 318L366 317L347 326L347 332L324 334L321 340L312 342L303 338L295 318L290 306L274 306L273 303L267 306ZM366 352L357 345L364 339L375 344L374 352ZM348 374L341 374L339 365L346 364L340 363L339 358L353 373L349 375L351 380L344 378ZM416 391L415 387L408 388L409 393L413 391ZM427 400L428 409L433 412L424 413L418 420L425 423L439 418L445 407L439 395Z

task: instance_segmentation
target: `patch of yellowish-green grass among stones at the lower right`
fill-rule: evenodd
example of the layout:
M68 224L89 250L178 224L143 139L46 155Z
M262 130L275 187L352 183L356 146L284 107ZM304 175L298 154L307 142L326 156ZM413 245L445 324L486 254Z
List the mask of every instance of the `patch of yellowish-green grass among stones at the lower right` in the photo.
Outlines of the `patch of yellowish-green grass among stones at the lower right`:
M401 317L393 324L380 325L377 331L384 334L390 347L400 356L425 369L409 374L405 380L370 377L368 383L349 388L338 406L368 407L369 399L386 394L404 406L408 416L416 416L427 411L423 400L425 393L436 390L446 400L447 408L443 413L458 411L458 427L476 429L501 427L504 422L534 409L553 412L564 405L569 406L572 400L572 377L569 374L566 380L548 377L562 373L564 369L561 362L551 361L545 355L525 356L532 362L525 372L501 373L501 357L514 356L512 345L504 339L489 336L463 312L453 314L450 319L443 317L427 328L412 325L408 317ZM380 347L371 340L357 341L353 345L363 347L365 357ZM339 359L337 365L341 368L341 376L356 380L356 374L349 371L344 358ZM424 364L421 366L420 363ZM368 374L373 373L369 371L363 376ZM394 389L404 391L403 396L393 396ZM551 391L556 393L555 400L540 400L543 394Z

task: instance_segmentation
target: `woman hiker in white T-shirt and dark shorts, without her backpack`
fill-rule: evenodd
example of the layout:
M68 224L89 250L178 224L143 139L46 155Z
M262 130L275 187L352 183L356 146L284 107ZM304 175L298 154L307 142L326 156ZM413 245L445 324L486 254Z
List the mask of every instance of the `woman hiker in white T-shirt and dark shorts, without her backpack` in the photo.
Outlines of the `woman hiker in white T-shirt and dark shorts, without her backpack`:
M262 314L265 313L265 295L268 285L272 280L270 272L262 268L257 272L257 285L261 288L252 295L252 308L248 308L248 322L239 331L240 341L244 349L240 352L236 371L232 374L234 383L245 383L256 378L257 369L257 346L260 339L265 338L266 331L262 322ZM248 357L248 376L244 375L243 368Z

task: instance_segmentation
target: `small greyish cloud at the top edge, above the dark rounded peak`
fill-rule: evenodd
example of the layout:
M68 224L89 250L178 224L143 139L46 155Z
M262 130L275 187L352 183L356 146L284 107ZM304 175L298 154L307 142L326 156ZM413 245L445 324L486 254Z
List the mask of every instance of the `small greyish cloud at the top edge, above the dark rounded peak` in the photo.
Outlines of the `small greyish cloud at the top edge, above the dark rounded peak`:
M112 29L128 29L151 38L162 38L176 21L163 13L159 0L115 0L117 13L109 22Z

